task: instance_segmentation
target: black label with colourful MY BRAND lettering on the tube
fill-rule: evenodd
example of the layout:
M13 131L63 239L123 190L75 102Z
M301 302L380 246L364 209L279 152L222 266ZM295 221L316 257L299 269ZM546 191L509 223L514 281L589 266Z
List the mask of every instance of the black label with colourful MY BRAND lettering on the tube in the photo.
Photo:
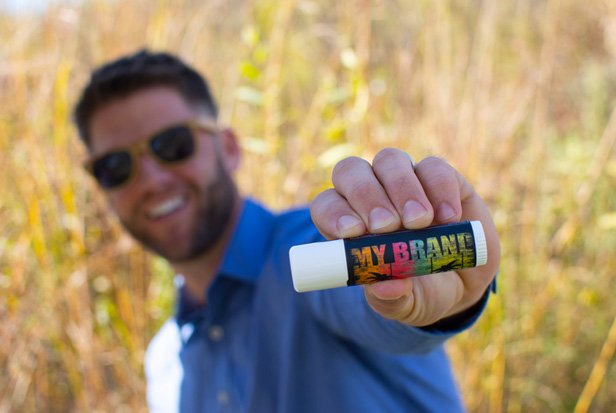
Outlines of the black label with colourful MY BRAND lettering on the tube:
M347 285L472 268L477 265L469 221L344 240Z

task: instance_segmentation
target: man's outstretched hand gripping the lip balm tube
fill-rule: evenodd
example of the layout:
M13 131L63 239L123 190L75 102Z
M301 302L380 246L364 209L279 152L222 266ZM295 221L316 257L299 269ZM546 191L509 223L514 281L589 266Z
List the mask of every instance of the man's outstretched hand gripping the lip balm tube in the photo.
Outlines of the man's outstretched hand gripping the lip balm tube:
M479 301L500 265L498 234L483 200L451 165L431 157L413 171L405 152L384 149L372 165L355 157L340 161L332 181L334 188L310 205L315 225L328 239L466 220L483 224L486 265L366 285L366 299L374 311L421 327Z

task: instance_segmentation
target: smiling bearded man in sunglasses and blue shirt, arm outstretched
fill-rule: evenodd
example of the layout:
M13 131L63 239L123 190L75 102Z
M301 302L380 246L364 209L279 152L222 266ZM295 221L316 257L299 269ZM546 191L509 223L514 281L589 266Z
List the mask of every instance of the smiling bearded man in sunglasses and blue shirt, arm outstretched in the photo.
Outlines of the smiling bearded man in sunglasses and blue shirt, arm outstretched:
M75 110L112 209L182 275L176 316L146 355L150 409L463 410L442 344L482 312L500 262L472 187L441 159L414 169L385 149L338 163L310 211L276 215L238 193L238 139L216 115L199 74L146 51L95 71ZM293 245L460 220L483 223L487 265L293 290Z

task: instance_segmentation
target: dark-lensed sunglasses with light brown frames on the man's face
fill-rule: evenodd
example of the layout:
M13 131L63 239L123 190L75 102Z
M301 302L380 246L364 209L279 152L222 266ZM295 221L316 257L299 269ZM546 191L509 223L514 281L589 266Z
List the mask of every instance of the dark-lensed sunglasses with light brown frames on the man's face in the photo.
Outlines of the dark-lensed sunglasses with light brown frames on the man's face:
M189 120L149 139L90 159L84 166L102 188L117 189L137 176L141 154L149 154L162 166L177 166L188 161L197 152L197 131L215 135L218 127L212 120Z

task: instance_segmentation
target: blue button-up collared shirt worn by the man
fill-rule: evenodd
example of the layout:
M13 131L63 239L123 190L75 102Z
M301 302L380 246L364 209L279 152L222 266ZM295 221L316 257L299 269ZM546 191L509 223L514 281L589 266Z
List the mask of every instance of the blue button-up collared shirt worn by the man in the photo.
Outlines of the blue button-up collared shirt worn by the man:
M443 343L488 293L446 329L386 320L361 287L297 293L289 248L322 239L307 210L245 201L207 305L180 287L176 317L148 347L152 412L463 410Z

